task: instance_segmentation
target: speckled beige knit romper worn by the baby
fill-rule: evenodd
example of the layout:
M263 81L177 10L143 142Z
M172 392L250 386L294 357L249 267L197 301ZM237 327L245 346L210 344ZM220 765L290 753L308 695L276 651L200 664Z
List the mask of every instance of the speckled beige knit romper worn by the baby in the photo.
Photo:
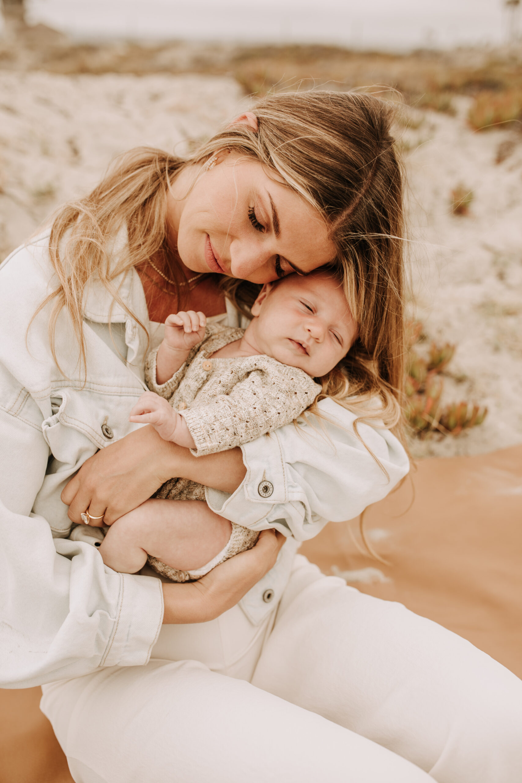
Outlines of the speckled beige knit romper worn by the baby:
M207 326L203 341L192 349L178 372L161 385L156 383L158 349L147 357L146 384L185 417L196 444L192 449L195 456L233 449L290 424L321 391L303 370L281 364L270 356L209 358L225 345L240 340L243 334L243 329ZM171 478L154 497L205 500L205 488L187 478ZM192 581L232 555L253 547L258 536L257 531L232 522L232 535L225 550L197 571L177 571L150 555L149 563L174 582Z

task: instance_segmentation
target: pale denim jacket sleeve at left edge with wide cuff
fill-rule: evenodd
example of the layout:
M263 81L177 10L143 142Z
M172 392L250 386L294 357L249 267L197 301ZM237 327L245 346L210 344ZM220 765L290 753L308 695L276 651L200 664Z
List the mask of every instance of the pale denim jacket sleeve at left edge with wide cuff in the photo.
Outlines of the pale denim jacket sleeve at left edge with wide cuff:
M10 391L16 400L1 364L0 381L2 402ZM41 412L18 395L23 406L0 410L0 687L146 663L163 617L160 581L117 574L95 547L52 538L63 527L59 490L50 491L60 476L46 475ZM35 499L47 518L31 514Z

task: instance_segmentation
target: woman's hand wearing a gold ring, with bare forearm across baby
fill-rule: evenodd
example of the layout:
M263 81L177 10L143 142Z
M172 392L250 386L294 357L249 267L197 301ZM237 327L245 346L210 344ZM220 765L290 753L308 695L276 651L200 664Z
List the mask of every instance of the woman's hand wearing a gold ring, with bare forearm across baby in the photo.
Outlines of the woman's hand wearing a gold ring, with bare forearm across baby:
M153 427L142 427L106 446L81 466L62 493L69 518L101 517L92 526L112 525L149 500L169 478L190 478L221 492L233 493L247 469L241 449L193 456L189 449L164 441Z

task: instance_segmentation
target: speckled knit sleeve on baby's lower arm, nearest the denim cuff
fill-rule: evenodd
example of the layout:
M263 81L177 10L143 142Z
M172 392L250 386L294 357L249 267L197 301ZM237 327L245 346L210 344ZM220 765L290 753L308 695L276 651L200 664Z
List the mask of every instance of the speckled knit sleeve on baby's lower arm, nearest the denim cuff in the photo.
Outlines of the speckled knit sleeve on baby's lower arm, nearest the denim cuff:
M232 449L290 424L321 391L302 370L267 363L243 377L207 406L182 411L195 456Z

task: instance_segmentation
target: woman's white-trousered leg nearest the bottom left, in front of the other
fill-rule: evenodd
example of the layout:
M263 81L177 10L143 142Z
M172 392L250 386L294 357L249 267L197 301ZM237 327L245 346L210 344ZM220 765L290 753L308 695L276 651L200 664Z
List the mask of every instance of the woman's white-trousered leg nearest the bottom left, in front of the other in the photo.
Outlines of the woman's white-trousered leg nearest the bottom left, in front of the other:
M427 783L391 751L194 661L44 686L76 783Z

